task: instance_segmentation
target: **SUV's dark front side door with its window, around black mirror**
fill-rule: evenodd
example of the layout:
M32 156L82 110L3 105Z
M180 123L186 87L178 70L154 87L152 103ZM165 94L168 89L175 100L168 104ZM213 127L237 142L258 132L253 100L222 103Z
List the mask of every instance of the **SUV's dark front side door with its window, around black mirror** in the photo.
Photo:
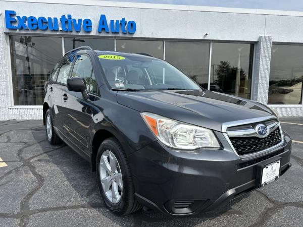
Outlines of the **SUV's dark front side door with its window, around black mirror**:
M64 127L68 138L78 148L89 155L88 141L92 123L93 101L98 98L97 84L93 73L91 60L86 54L78 54L71 71L70 78L80 77L86 83L88 99L84 99L81 92L63 91L63 108L68 112L64 118Z

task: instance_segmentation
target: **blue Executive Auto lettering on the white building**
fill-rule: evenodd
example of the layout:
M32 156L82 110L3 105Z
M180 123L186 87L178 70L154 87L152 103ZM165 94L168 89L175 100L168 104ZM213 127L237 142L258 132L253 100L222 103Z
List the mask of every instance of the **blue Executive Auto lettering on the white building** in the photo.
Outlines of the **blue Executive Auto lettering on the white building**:
M80 32L81 28L85 32L92 31L92 22L90 19L75 19L71 14L67 17L62 15L57 17L26 17L17 16L13 10L5 11L6 28L10 30L49 30L49 31L64 31L64 32ZM97 31L99 33L124 33L134 34L136 32L136 22L121 20L108 20L104 14L100 15Z

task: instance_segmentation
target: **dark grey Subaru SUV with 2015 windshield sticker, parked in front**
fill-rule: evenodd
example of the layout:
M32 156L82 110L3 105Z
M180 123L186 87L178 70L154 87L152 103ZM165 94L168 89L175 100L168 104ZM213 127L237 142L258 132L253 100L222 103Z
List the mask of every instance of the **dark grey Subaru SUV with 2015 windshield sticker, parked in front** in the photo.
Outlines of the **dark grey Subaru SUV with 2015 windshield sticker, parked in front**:
M45 84L51 144L90 162L106 205L172 215L210 211L277 180L291 139L255 101L208 91L146 54L67 52Z

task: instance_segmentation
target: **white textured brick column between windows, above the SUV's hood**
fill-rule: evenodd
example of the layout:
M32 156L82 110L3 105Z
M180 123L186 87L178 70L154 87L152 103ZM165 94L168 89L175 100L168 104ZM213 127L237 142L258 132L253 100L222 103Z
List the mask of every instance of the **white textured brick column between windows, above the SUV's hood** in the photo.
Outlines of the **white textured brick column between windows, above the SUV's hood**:
M255 48L251 99L267 105L272 37L260 36Z

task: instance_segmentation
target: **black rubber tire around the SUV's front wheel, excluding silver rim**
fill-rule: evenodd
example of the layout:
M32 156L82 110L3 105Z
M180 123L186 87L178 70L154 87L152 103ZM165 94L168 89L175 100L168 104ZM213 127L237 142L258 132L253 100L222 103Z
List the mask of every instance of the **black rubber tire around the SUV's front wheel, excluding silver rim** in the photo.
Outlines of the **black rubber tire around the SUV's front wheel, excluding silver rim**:
M119 166L120 166L120 170L121 170L121 174L122 174L122 181L123 181L123 189L122 189L122 196L121 199L118 203L112 203L107 196L105 195L105 192L102 188L102 184L100 181L100 172L99 172L99 163L100 163L100 158L102 156L102 154L106 151L109 150L111 152L113 152L113 154L116 156ZM127 167L122 155L121 155L121 148L117 145L117 141L115 141L114 139L107 139L105 140L99 147L98 149L98 153L97 153L97 157L96 157L96 174L97 174L97 183L99 186L99 190L100 190L100 194L102 195L106 205L115 213L121 213L124 209L126 209L126 202L127 197L128 197L128 193L129 191L128 189L128 172L127 172Z

